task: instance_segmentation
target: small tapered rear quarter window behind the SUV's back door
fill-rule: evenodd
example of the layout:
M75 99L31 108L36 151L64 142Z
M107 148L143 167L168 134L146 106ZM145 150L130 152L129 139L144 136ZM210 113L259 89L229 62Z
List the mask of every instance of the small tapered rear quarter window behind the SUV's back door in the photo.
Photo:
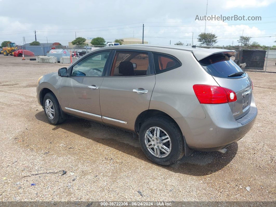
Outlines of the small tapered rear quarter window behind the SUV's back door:
M174 57L158 53L153 53L153 62L155 73L162 73L181 66Z

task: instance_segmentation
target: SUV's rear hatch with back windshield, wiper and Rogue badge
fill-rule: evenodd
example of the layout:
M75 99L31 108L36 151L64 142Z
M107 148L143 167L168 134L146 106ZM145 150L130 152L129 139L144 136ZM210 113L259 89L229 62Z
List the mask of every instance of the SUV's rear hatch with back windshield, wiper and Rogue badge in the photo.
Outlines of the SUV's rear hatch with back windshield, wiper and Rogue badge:
M204 49L208 50L208 49ZM228 103L235 120L240 119L250 111L252 98L252 82L248 75L230 59L234 51L209 51L198 58L201 66L208 72L219 86L235 91L237 101ZM195 55L195 54L194 54ZM195 55L197 58L197 56Z

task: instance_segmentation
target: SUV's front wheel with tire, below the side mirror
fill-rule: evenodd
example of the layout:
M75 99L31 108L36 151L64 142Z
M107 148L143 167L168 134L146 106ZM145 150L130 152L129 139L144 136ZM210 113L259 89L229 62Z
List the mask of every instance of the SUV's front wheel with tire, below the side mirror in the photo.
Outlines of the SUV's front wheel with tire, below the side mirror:
M62 112L59 108L59 101L53 93L46 93L43 99L44 113L50 124L63 122Z

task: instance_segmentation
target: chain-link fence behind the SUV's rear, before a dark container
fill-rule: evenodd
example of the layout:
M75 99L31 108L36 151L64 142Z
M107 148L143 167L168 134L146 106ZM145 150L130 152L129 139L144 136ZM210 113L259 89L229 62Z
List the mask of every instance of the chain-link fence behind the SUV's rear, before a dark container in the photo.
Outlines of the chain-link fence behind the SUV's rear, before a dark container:
M231 59L245 71L276 73L276 47L225 47L197 46L201 48L217 48L235 50Z

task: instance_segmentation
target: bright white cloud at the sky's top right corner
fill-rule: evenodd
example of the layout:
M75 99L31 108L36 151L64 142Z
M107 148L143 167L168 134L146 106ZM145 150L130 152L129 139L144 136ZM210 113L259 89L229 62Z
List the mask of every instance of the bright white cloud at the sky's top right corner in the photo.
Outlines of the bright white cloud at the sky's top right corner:
M232 9L235 7L248 8L248 7L265 7L269 4L276 2L276 0L228 0L226 1L225 9Z

